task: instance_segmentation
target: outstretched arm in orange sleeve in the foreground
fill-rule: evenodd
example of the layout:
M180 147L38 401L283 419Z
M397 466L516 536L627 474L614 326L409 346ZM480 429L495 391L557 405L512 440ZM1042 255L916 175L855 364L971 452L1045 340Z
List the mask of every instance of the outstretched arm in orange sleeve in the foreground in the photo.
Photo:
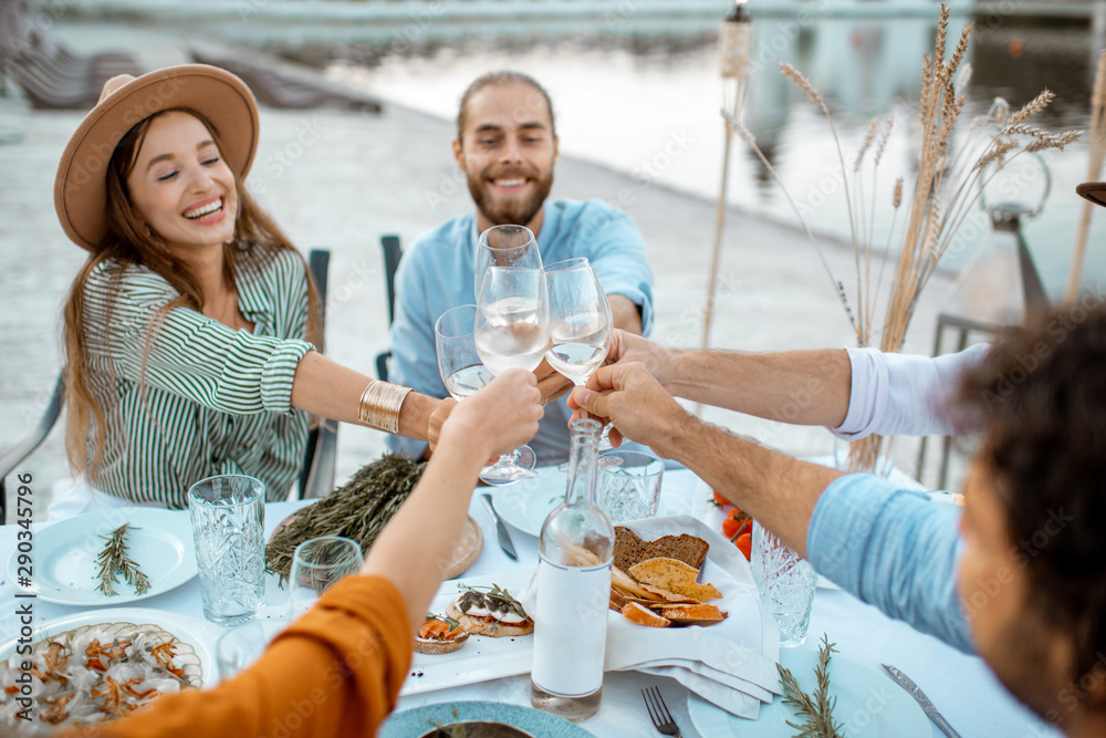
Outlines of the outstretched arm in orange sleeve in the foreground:
M480 467L538 433L540 401L534 375L511 370L457 404L418 486L380 531L361 574L328 589L241 674L56 738L375 736L395 707Z

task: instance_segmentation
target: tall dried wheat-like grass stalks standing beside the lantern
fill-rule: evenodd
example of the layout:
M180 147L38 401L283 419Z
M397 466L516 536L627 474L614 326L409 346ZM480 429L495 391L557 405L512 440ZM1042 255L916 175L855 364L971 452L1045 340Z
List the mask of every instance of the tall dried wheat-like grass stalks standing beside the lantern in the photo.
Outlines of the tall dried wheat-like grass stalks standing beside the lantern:
M875 183L879 163L890 136L893 118L888 116L883 133L879 131L878 118L870 122L854 158L854 166L851 170L846 170L841 141L822 93L806 79L806 75L792 64L780 65L781 72L794 82L812 103L822 108L842 162L856 270L856 287L855 291L852 292L852 298L845 283L836 279L832 272L831 280L845 309L845 314L856 332L857 343L862 346L873 345L878 336L878 346L883 351L897 352L901 350L907 328L918 305L922 289L936 271L941 257L952 243L964 218L978 201L982 187L1001 167L1023 153L1063 149L1064 146L1078 138L1081 133L1067 131L1052 134L1026 123L1047 107L1055 97L1051 90L1044 90L1013 114L1010 113L1010 107L1005 102L997 100L988 116L972 123L968 139L957 152L953 152L952 133L968 101L963 91L971 80L971 66L963 63L963 60L968 52L972 25L968 24L962 29L956 48L951 55L946 59L948 27L949 6L942 4L933 54L922 58L921 92L918 101L921 145L917 177L914 180L912 190L904 185L901 177L895 183L891 227L886 238L878 239L883 246L883 256L875 279L872 276L874 247L877 240L873 217L877 208ZM1104 55L1104 60L1106 60L1106 55ZM1106 61L1103 63L1106 64ZM1104 108L1106 108L1106 82L1103 84ZM1106 131L1106 124L1103 128ZM750 143L761 162L779 183L779 176L764 155L757 148L751 134L744 131L743 126L741 126L741 131L743 132L742 137ZM870 158L870 165L867 165L866 156L873 150L873 146L875 146L875 154ZM1106 150L1106 135L1103 137L1103 149ZM852 183L849 174L853 175ZM868 178L870 178L872 185L867 188L870 191L866 195L865 183ZM784 188L784 193L786 194L786 188ZM805 219L790 195L787 195L787 199L803 226L806 227ZM900 227L898 214L904 205L906 205L906 219ZM866 215L867 217L865 217ZM899 228L901 228L900 231ZM821 257L821 246L814 239L808 227L806 227L806 232ZM894 278L888 284L883 325L877 326L875 322L877 305L884 304L880 300L884 268L887 266L890 246L896 236L901 239L899 251L894 267ZM826 264L824 257L822 261L823 264ZM826 269L828 270L827 264ZM851 467L857 469L875 468L881 441L881 438L873 436L853 444L849 453Z

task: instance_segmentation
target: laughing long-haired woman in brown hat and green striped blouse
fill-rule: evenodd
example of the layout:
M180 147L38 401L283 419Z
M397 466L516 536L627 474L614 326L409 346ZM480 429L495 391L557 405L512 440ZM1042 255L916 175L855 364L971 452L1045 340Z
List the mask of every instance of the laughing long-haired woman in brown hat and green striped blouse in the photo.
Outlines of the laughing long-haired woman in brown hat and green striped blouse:
M317 353L302 256L244 188L258 110L206 65L118 76L58 167L54 205L91 252L65 305L66 445L83 484L51 510L186 507L216 474L300 472L307 414L415 438L448 406ZM441 407L441 410L435 413Z

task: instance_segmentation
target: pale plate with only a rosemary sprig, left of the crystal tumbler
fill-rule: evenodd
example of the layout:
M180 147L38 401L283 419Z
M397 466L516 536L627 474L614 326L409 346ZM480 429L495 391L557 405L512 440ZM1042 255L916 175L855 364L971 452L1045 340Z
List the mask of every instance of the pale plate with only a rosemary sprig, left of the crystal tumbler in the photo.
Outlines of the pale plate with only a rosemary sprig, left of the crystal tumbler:
M109 597L96 588L96 557L108 536L131 523L128 553L149 578L149 590L135 594L126 582L117 582L118 595ZM113 508L62 520L34 533L30 586L20 584L27 568L20 567L20 551L8 557L10 581L33 592L45 602L62 605L104 606L157 596L196 576L196 548L187 513L156 508Z

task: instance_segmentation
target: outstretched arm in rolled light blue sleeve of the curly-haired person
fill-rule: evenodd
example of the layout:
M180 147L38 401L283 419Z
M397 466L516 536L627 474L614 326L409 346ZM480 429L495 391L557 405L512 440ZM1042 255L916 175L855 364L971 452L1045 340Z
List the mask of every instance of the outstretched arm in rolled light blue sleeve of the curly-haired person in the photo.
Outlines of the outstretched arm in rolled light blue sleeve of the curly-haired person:
M870 475L844 475L769 450L692 417L641 364L576 389L589 413L690 468L864 602L971 651L956 589L956 514Z

